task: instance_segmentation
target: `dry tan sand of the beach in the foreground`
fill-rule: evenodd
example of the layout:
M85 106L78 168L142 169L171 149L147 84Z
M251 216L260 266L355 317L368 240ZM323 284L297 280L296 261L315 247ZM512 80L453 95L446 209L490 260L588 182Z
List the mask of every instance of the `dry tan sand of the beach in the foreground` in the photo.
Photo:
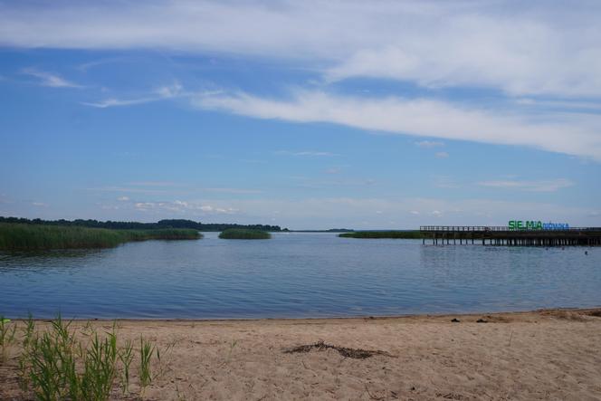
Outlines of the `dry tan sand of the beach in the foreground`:
M142 334L163 350L163 373L145 399L601 399L599 309L118 325L119 341ZM383 352L284 352L318 341ZM14 359L0 382L1 399L21 399Z

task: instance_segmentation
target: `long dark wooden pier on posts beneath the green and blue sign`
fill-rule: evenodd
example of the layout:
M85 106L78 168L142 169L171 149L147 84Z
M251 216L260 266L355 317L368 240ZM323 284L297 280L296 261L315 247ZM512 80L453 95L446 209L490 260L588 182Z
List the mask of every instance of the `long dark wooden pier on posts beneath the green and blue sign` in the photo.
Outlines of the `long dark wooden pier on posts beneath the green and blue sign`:
M601 246L601 227L562 230L510 230L505 226L423 225L422 243L497 246Z

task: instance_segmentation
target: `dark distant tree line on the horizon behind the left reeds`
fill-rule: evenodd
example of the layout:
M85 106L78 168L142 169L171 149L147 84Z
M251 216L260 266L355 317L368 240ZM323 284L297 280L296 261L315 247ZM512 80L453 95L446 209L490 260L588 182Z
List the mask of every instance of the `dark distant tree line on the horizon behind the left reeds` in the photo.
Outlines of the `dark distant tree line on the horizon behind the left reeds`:
M111 228L119 230L151 230L155 228L193 228L198 231L224 231L228 228L245 228L248 230L261 230L261 231L288 231L284 228L283 230L279 225L269 224L219 224L219 223L200 223L192 220L185 219L171 219L171 220L160 220L157 223L139 223L139 222L99 222L98 220L42 220L27 219L22 217L2 217L0 216L0 223L20 223L20 224L46 224L46 225L64 225L64 226L81 226L91 228Z

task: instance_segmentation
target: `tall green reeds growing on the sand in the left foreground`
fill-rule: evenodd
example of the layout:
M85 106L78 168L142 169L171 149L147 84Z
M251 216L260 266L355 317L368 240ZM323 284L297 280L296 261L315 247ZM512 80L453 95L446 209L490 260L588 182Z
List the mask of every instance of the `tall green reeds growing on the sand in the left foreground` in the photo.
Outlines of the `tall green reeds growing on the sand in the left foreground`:
M52 320L50 329L36 330L30 316L20 330L21 341L11 338L16 350L18 377L24 399L36 400L108 400L120 387L129 393L129 370L135 359L131 341L119 346L116 324L110 331L99 335L91 324L80 331L71 328L59 315ZM14 323L14 329L16 323ZM144 391L151 377L151 361L157 356L154 344L140 338L138 371L139 388Z

